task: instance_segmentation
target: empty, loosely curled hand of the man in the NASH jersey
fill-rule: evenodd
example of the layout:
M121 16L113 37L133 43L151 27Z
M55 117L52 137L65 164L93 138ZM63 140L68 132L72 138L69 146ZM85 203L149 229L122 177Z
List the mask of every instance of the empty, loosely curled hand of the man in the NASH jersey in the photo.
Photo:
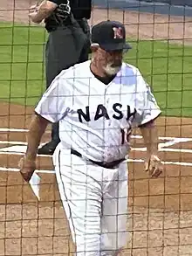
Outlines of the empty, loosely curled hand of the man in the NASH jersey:
M161 175L163 165L158 156L151 155L145 162L145 170L149 171L150 176L157 177Z

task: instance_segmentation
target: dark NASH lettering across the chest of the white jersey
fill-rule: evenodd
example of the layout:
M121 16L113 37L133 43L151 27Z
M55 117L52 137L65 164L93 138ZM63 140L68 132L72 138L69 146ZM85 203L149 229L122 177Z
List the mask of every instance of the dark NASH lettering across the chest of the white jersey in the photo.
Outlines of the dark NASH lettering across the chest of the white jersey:
M122 104L120 103L113 104L113 111L114 111L113 118L116 120L120 120L124 117L124 114L122 113L122 111L120 111L121 107L122 107ZM77 110L77 113L79 114L80 122L83 122L82 118L84 118L85 121L91 121L89 106L86 106L85 112L79 108ZM127 114L126 114L127 121L130 119L131 116L134 116L135 114L136 114L136 109L134 108L134 112L131 112L130 106L127 105ZM94 121L99 120L99 118L101 117L105 117L106 120L110 119L109 114L107 113L106 107L103 106L102 104L99 104L94 115Z

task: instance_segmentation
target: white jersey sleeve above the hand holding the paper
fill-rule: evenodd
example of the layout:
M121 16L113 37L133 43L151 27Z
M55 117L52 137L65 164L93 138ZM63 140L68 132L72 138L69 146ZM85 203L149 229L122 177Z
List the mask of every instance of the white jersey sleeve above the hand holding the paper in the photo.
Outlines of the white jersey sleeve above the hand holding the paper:
M68 94L64 79L57 76L39 100L35 113L51 122L61 120L67 112L65 104L67 104Z

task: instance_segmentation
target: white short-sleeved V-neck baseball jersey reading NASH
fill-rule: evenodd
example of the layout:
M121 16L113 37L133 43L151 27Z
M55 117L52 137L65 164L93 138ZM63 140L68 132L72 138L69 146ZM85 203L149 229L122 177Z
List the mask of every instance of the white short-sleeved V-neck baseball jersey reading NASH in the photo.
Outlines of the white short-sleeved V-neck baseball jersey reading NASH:
M136 67L123 63L105 85L90 64L88 60L62 71L35 111L48 121L59 121L61 148L111 162L127 156L131 129L153 120L161 110Z

